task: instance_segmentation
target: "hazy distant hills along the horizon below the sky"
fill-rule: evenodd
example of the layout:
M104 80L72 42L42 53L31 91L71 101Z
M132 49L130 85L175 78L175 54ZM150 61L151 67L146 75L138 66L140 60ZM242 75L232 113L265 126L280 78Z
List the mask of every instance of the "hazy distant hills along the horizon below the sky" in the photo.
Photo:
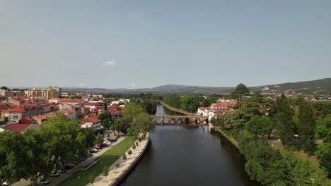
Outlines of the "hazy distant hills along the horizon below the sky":
M158 94L229 94L235 87L202 87L188 85L164 85L151 89L102 89L102 88L71 88L64 87L64 91L69 92L95 92L95 93L141 93L151 92ZM263 85L249 87L250 90L261 90L265 94L279 94L286 92L289 94L312 94L331 95L331 78L305 82L286 82L277 85Z

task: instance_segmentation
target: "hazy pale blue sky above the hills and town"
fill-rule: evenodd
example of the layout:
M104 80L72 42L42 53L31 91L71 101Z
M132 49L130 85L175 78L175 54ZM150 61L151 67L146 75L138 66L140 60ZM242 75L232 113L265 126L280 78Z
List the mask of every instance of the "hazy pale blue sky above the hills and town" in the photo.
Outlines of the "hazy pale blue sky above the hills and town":
M331 77L331 1L0 1L0 85L266 85Z

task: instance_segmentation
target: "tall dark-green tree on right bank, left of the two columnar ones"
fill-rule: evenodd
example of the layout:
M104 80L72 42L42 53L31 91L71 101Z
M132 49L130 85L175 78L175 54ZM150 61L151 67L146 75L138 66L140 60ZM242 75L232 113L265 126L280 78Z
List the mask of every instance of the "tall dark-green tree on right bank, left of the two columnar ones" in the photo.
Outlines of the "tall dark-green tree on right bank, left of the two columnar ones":
M276 128L279 138L284 146L289 146L294 139L295 128L293 122L294 110L291 108L288 99L284 94L277 97L274 103L274 112L276 120Z

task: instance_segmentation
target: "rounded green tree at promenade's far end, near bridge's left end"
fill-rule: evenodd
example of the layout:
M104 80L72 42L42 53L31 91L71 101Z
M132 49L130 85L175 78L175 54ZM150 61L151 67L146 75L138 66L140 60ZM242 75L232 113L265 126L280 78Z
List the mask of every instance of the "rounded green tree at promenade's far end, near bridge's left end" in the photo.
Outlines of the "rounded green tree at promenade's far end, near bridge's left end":
M129 129L131 135L139 135L142 133L144 138L147 132L153 132L155 125L153 125L152 118L147 113L140 113L135 118L131 128Z

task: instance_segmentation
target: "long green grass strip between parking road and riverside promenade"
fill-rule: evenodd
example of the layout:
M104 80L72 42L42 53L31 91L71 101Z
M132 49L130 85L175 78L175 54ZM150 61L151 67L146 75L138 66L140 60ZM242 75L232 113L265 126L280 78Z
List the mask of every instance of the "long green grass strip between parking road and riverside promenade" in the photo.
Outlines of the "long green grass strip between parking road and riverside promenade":
M117 159L120 159L124 152L126 152L134 144L135 140L136 137L127 137L122 142L115 145L115 147L112 147L112 149L109 149L98 158L95 158L98 163L95 163L93 166L91 166L91 168L88 168L88 170L86 171L77 171L76 173L74 173L74 175L71 175L71 177L66 178L66 180L62 181L59 185L79 186L88 184L90 182L91 175L93 175L94 177L100 175L103 172L103 167L111 166L112 163L115 163L115 161L117 161Z

